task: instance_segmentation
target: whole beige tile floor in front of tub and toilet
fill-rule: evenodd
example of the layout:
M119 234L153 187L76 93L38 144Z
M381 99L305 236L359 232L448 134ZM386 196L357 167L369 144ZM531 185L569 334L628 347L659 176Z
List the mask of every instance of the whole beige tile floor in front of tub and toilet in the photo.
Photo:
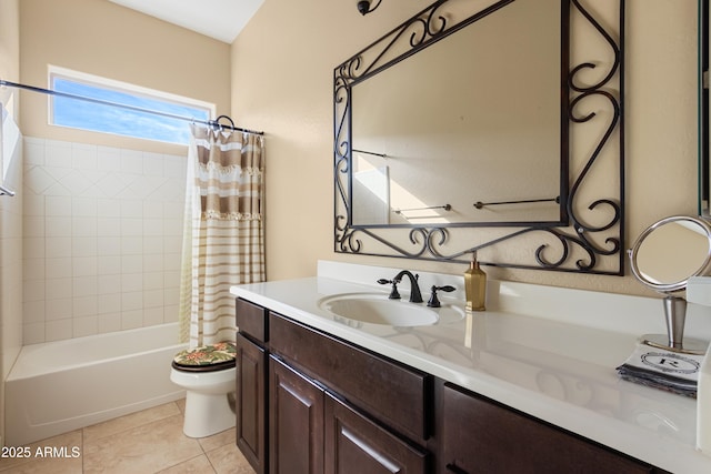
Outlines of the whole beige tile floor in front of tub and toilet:
M234 445L234 430L186 436L183 407L180 400L32 443L30 458L0 458L0 474L254 473ZM54 457L51 450L47 457L34 455L51 446L58 447Z

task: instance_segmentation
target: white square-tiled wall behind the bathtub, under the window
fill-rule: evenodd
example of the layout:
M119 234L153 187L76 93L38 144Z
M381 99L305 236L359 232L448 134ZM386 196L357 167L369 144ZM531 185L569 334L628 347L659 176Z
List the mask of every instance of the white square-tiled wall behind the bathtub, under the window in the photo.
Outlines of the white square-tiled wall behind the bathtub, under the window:
M177 320L186 160L24 139L24 344Z

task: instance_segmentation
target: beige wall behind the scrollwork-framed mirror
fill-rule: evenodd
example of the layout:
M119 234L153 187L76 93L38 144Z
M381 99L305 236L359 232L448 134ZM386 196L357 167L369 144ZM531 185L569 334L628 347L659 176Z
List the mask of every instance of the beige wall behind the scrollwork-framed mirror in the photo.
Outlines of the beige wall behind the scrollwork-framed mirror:
M317 259L463 272L458 264L333 253L333 68L429 4L385 0L361 17L354 3L269 0L232 44L233 115L268 133L269 279L313 275ZM629 248L653 221L697 212L697 1L628 0L627 6ZM505 280L648 294L629 275L488 272Z

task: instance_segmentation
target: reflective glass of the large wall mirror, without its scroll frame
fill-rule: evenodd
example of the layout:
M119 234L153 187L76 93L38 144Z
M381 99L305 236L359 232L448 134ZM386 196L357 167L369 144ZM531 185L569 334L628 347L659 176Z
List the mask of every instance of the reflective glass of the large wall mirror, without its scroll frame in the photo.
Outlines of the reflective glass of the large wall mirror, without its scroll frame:
M352 224L567 223L560 24L517 0L353 81Z

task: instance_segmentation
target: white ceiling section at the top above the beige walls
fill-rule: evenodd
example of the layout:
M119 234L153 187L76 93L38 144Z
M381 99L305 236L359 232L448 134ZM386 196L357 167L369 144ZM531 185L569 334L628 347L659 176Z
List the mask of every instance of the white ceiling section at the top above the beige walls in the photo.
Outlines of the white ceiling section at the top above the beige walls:
M231 44L264 0L110 0Z

